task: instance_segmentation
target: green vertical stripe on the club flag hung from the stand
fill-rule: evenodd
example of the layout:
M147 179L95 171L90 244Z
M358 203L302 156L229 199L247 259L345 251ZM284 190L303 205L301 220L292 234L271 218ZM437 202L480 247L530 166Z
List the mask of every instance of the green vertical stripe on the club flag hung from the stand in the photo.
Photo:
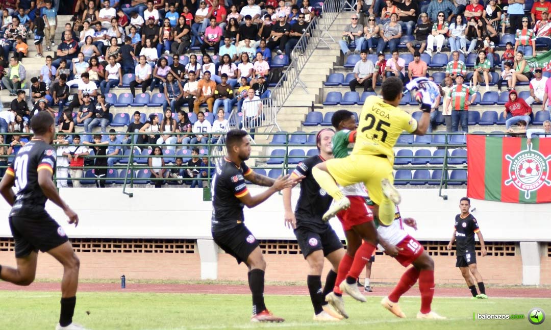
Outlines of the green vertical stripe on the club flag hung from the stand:
M484 199L487 201L501 201L501 167L503 155L503 139L498 137L486 138L484 169ZM498 161L501 160L501 161Z

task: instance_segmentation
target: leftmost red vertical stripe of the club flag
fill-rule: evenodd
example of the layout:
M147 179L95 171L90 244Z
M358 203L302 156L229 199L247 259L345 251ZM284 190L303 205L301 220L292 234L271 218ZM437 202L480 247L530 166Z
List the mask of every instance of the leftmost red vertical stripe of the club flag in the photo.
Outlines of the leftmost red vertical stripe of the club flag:
M484 199L486 137L467 134L467 196Z

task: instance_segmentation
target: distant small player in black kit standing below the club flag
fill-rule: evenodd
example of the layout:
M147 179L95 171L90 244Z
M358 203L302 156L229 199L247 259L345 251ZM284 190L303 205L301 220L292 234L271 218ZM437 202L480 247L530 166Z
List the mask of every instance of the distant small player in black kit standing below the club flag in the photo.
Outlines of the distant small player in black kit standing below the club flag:
M459 208L461 209L461 214L455 216L455 226L447 249L451 250L451 245L454 241L456 242L455 267L459 267L461 270L461 275L463 275L465 282L467 282L473 299L488 299L484 288L484 282L482 282L482 275L480 275L477 269L477 253L474 251L475 233L480 241L480 251L483 257L487 254L486 246L484 245L482 232L480 232L480 228L478 228L477 219L474 219L473 215L469 212L471 208L471 199L467 197L461 198ZM477 293L477 288L474 286L473 276L477 280L480 294Z

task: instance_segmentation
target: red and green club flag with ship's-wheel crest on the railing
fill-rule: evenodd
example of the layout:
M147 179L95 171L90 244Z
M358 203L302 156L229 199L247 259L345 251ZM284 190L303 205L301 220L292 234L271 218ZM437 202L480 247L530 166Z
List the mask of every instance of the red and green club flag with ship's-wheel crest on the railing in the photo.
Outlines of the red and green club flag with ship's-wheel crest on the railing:
M551 138L467 135L467 196L506 203L551 203Z

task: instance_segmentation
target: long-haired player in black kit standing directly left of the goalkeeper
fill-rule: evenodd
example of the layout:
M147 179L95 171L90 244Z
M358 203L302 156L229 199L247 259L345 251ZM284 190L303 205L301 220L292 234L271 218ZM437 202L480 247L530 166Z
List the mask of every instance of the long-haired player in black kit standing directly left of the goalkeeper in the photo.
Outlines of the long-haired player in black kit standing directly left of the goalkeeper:
M316 321L339 321L343 318L329 307L325 296L333 291L339 263L344 256L344 248L331 225L321 219L329 209L333 198L320 188L312 176L314 166L333 158L331 139L334 134L335 132L330 128L318 132L316 142L320 154L301 161L291 174L291 177L304 176L300 184L300 195L294 213L291 209L291 188L283 190L285 225L294 229L302 256L310 268L306 283L312 306L314 306L314 320ZM325 286L322 290L321 273L324 257L331 262L332 268L327 273Z

